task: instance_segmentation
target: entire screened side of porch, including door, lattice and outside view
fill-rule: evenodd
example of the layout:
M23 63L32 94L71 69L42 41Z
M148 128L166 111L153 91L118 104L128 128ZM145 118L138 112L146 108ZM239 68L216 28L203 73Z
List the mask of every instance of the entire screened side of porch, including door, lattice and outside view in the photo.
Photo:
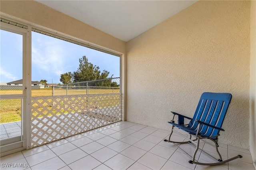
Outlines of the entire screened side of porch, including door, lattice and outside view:
M1 39L1 153L121 121L120 55L36 29L30 43L30 26L3 19L1 24L22 36L10 43L20 47L4 46L10 36ZM2 89L8 75L13 80L5 86L13 88Z

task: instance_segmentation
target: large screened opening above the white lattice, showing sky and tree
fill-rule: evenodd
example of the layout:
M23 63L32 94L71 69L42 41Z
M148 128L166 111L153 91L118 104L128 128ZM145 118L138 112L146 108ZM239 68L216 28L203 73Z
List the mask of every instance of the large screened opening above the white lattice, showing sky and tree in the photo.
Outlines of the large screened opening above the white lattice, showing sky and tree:
M120 56L32 31L32 96L120 93Z

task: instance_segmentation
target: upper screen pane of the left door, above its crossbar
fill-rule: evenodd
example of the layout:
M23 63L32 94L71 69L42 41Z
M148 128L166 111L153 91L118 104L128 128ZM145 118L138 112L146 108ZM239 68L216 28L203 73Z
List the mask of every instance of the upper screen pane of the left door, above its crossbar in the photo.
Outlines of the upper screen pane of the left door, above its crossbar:
M23 36L0 30L0 94L22 94Z

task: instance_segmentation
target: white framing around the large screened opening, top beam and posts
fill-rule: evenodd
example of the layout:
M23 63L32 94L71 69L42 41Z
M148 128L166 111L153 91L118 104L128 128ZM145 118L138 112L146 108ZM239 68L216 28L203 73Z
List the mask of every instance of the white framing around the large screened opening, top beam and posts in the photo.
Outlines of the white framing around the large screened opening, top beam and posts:
M22 23L22 22L25 22ZM82 40L80 38L76 38L58 31L51 30L49 28L43 27L43 26L38 26L36 24L31 24L29 22L26 23L26 21L22 21L18 18L9 18L8 16L1 16L0 18L0 29L10 31L17 33L19 32L20 34L23 35L23 94L18 95L18 97L24 98L24 108L23 108L23 124L24 124L24 129L26 132L23 134L23 148L15 149L15 150L10 150L8 152L4 152L4 154L10 154L14 152L18 152L20 150L28 149L30 148L30 104L31 100L30 97L32 96L32 76L31 76L31 69L32 69L32 31L39 32L39 33L44 33L45 35L52 36L55 38L59 38L60 40L68 41L71 43L75 43L78 45L82 45L84 47L88 47L91 49L95 49L98 51L102 51L104 53L108 53L111 55L115 55L117 57L120 57L120 94L122 95L122 100L121 100L121 115L122 115L122 120L125 121L125 110L124 110L124 53L120 53L118 51L114 51L112 49L108 49L106 47L102 47L100 45L96 45L94 43L87 42L86 40ZM29 23L29 24L28 24ZM3 29L4 28L4 29ZM17 33L17 34L19 34ZM2 97L3 95L1 95ZM14 97L12 95L8 95L5 97ZM16 95L17 97L17 95ZM2 153L1 153L2 154Z

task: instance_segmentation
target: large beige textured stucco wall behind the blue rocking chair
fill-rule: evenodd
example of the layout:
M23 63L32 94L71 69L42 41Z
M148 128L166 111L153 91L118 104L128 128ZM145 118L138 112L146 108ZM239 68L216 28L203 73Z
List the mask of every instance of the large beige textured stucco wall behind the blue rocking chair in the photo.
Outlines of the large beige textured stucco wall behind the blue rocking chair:
M127 120L170 129L200 95L233 95L220 142L249 148L250 1L199 1L129 41Z

